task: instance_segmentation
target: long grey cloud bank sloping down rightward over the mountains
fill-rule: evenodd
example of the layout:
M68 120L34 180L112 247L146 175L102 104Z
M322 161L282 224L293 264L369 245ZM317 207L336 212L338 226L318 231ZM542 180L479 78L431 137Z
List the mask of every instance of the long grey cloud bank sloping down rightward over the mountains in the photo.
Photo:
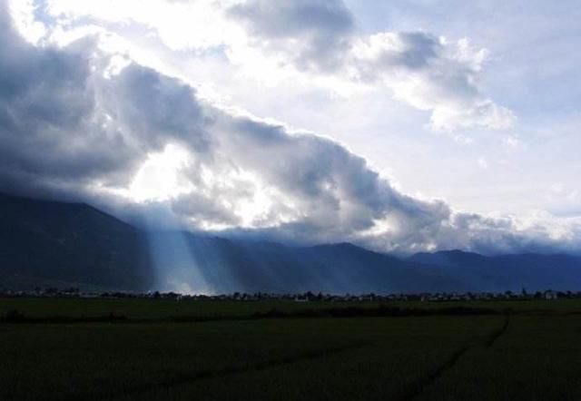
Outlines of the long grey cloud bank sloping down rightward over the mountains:
M410 40L424 50L392 54L389 64L421 70L434 57L421 54L439 47ZM121 214L151 207L190 230L300 243L350 240L400 252L578 248L579 221L524 224L410 197L338 142L223 110L143 65L110 73L113 54L97 42L34 46L0 13L0 52L9 55L0 59L3 191L97 200ZM140 171L172 149L181 154L170 171L179 191L136 201Z

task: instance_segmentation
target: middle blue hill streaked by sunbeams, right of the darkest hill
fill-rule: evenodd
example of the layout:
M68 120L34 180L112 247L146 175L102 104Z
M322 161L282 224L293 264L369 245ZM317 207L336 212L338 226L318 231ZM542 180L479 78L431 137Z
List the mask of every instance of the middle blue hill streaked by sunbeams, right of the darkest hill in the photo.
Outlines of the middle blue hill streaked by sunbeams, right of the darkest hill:
M165 256L162 251L166 279L188 282L191 277L195 283L198 278L202 289L206 286L217 292L411 293L453 290L458 285L438 271L351 244L293 248L186 233L157 235L157 244L171 241L181 244L179 247L187 245L177 252L181 254L177 259L176 252ZM173 239L168 240L170 237ZM185 265L192 269L182 269Z

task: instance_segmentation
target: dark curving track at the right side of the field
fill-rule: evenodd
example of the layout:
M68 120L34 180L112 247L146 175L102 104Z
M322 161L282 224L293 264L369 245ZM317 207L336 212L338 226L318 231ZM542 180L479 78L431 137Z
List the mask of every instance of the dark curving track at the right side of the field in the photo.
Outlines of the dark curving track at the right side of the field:
M399 399L401 399L401 401L413 401L418 398L424 392L424 390L428 388L428 386L436 382L438 378L442 377L449 369L456 366L458 360L463 357L464 354L466 354L470 349L476 347L489 348L494 346L494 344L497 342L497 339L507 332L509 321L510 316L505 315L505 321L501 328L493 331L487 337L485 337L484 340L478 343L469 344L466 347L458 349L458 351L454 352L451 357L449 357L448 360L442 365L437 367L432 372L429 372L426 376L420 377L414 383L409 385L408 389L404 390L402 396L400 396Z

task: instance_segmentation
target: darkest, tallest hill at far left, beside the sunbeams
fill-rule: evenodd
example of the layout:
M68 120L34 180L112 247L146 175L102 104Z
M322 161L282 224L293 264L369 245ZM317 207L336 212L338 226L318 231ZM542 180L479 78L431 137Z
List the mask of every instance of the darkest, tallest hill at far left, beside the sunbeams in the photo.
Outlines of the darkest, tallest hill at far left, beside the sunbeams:
M143 233L91 206L0 195L0 288L149 289Z

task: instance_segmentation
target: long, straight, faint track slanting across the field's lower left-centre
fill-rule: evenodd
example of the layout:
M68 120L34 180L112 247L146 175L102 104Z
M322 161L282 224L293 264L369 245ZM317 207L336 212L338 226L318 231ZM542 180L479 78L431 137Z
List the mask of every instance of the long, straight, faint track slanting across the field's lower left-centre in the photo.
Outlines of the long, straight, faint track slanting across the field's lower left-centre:
M331 355L340 354L342 352L351 351L354 349L359 349L363 347L371 347L373 346L373 342L359 342L355 344L349 344L342 347L330 347L326 349L319 349L313 350L308 353L302 354L296 357L281 357L278 359L271 359L266 360L263 362L257 362L255 364L251 364L248 366L242 367L225 367L218 370L207 370L207 371L200 371L197 373L192 374L191 376L182 376L182 377L175 377L173 379L167 380L165 382L160 383L152 383L152 384L145 384L143 386L134 386L132 388L127 388L126 390L121 390L119 392L113 394L103 394L100 396L100 399L116 399L121 398L123 396L135 396L140 393L146 393L149 391L156 391L162 389L168 389L174 386L182 386L187 384L192 384L200 380L205 379L212 379L216 377L227 377L232 375L238 375L241 373L248 373L248 372L258 372L261 370L267 370L272 367L282 367L285 365L291 365L303 361L313 360L313 359L320 359L325 357L330 357ZM83 395L72 394L67 399L70 400L79 400L84 399ZM88 398L87 398L88 399ZM94 399L94 397L92 398Z

